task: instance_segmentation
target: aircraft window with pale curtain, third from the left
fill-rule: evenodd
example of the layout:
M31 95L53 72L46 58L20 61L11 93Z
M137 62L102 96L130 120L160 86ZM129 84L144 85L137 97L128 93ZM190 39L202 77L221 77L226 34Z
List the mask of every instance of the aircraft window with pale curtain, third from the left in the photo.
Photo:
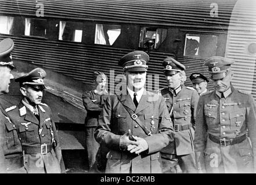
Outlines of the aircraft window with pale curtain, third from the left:
M60 21L59 40L82 42L82 23Z

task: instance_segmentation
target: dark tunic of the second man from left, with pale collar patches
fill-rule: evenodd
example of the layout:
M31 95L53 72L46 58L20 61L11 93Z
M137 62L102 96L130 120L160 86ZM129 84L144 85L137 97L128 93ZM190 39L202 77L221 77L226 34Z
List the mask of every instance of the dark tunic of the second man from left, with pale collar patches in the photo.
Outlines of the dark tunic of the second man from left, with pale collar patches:
M63 172L64 163L51 109L41 103L38 112L39 120L22 101L8 112L19 131L25 153L25 167L28 173L60 173L61 166ZM53 143L56 143L55 147Z

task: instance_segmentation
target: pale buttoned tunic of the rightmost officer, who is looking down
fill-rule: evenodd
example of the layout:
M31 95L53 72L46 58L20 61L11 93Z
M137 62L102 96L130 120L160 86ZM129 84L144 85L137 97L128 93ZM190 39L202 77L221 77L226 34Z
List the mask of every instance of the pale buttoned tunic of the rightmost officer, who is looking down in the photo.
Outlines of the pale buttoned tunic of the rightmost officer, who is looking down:
M233 86L225 91L225 102L217 91L200 96L197 106L194 149L199 167L208 173L252 172L256 156L256 109L253 97ZM223 139L239 138L246 134L251 140L243 140L225 146ZM208 134L222 142L212 142ZM222 146L221 146L222 143ZM254 161L254 162L253 162ZM205 164L204 164L205 162Z

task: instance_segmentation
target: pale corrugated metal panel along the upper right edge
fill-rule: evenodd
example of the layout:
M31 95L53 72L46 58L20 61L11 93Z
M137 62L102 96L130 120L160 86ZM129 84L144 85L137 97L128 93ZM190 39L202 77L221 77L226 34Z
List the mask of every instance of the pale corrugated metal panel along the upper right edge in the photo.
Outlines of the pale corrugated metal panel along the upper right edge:
M237 1L230 18L226 57L233 58L235 73L232 83L235 87L253 94L256 98L256 53L248 51L250 43L256 44L256 2Z

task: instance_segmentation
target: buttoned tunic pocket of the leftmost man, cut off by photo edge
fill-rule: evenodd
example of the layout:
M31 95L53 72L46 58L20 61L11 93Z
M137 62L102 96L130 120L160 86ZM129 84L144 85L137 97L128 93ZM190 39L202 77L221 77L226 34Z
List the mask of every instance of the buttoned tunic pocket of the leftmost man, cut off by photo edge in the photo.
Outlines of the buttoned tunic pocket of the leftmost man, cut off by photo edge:
M5 131L6 146L8 147L8 149L13 149L16 146L18 146L20 143L16 127L15 125L9 122L6 122L5 126L6 126L6 131Z

